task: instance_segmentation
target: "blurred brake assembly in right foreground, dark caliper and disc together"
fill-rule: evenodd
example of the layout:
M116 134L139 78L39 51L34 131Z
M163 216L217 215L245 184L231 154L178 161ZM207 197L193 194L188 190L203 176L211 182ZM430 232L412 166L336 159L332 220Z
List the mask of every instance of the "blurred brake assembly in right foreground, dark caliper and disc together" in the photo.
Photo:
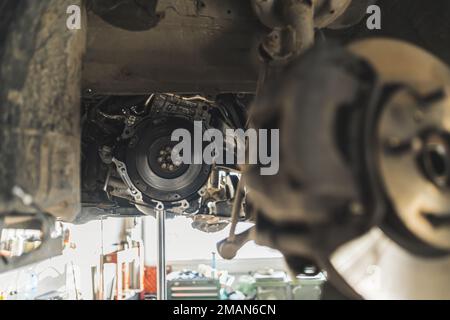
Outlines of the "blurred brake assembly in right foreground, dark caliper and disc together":
M305 53L253 109L281 137L279 174L245 172L256 241L349 297L450 298L449 92L447 66L405 42Z

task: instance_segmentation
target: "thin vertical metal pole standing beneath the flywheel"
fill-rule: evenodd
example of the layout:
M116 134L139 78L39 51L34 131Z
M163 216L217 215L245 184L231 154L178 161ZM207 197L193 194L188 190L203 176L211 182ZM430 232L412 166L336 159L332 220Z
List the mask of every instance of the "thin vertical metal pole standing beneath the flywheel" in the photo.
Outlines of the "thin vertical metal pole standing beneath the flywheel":
M166 211L156 210L156 223L157 223L157 245L158 245L158 264L157 264L157 277L158 277L158 300L167 300L167 284L166 284Z

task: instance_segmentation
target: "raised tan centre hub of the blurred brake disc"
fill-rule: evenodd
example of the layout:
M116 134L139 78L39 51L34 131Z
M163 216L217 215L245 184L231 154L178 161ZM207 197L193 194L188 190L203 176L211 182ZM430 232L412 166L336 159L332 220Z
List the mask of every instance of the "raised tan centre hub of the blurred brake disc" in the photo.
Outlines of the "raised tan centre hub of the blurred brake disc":
M450 99L444 91L434 97L410 88L393 95L379 118L378 161L401 222L427 244L450 249Z

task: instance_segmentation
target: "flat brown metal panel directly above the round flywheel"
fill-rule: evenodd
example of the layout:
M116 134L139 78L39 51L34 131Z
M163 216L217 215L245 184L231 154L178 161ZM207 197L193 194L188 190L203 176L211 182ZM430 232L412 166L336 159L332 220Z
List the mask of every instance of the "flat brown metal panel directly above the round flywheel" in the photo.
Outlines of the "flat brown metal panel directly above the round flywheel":
M250 1L161 0L158 25L133 32L88 14L83 87L101 94L254 92L260 36Z

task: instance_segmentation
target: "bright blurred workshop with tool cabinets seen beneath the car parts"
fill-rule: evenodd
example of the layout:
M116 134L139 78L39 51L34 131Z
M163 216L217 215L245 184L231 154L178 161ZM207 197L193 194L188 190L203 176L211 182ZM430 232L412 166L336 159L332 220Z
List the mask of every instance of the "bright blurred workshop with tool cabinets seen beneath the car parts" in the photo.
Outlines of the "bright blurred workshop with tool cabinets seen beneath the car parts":
M58 223L61 250L0 274L0 299L156 299L156 227L153 217ZM168 219L166 228L170 300L320 298L324 276L292 279L278 251L250 242L234 260L221 259L215 244L226 237L228 228L203 233L184 217ZM238 231L246 228L244 223ZM1 250L18 254L32 241L25 230L4 230Z

